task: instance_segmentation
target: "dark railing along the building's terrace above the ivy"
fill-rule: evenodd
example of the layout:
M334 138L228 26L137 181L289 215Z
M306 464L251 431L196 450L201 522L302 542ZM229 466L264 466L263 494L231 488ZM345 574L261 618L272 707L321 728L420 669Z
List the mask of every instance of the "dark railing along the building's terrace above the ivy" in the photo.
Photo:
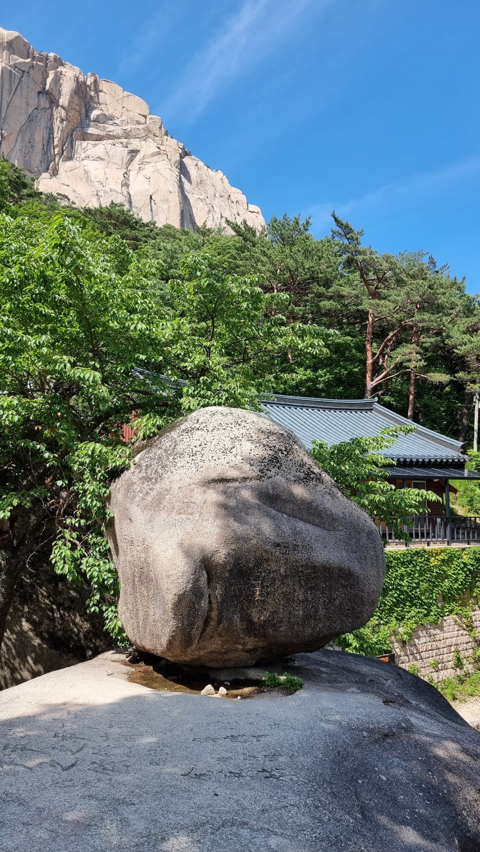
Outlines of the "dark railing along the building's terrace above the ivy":
M413 515L408 524L401 525L409 536L407 542L394 533L388 521L377 521L377 525L385 544L480 544L480 516L477 515L454 518Z

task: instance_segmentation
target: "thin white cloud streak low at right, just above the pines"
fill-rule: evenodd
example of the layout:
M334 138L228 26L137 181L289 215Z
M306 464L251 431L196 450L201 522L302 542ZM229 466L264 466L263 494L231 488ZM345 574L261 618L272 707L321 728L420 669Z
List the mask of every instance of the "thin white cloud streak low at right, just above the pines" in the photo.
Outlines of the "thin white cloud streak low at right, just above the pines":
M423 175L412 176L408 181L394 181L383 187L373 190L371 193L361 196L360 199L332 204L314 204L309 215L315 231L319 231L331 224L332 210L338 216L350 216L361 210L398 210L418 200L442 192L449 186L466 180L480 172L480 157L472 157L460 160L437 171L427 172Z

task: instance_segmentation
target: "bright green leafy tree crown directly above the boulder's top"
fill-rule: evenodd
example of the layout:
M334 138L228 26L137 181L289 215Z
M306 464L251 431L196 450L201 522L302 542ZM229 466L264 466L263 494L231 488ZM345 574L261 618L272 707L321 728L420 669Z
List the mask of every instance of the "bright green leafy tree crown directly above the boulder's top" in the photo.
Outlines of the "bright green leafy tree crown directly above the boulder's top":
M327 357L325 331L288 322L282 311L288 296L265 293L258 277L225 273L205 253L184 258L181 272L162 296L177 318L168 375L187 382L184 411L258 408L258 394L276 389L286 371L307 370L312 360Z

